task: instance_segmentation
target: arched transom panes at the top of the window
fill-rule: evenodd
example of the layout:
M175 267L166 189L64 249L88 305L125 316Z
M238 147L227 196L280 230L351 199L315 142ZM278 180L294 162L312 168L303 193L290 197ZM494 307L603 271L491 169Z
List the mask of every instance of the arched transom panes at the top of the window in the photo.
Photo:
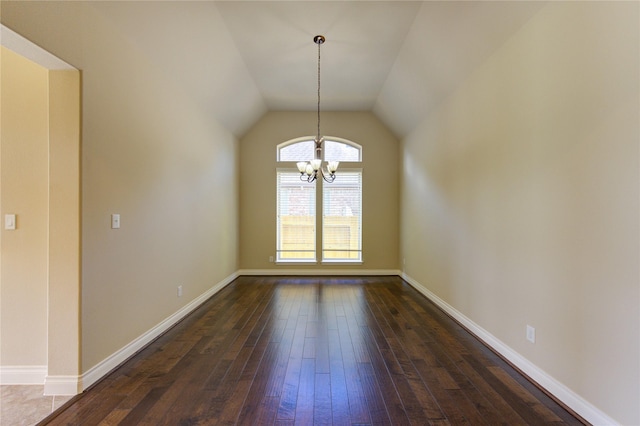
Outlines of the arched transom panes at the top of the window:
M313 136L291 139L278 145L278 161L309 161L315 155ZM347 139L325 136L322 145L325 161L360 162L362 146Z

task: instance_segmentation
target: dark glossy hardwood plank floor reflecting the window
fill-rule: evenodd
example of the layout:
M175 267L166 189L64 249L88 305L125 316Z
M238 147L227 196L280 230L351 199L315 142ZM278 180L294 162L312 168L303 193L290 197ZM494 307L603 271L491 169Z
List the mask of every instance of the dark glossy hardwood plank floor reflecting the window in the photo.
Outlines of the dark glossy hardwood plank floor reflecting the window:
M42 424L583 423L398 277L240 277Z

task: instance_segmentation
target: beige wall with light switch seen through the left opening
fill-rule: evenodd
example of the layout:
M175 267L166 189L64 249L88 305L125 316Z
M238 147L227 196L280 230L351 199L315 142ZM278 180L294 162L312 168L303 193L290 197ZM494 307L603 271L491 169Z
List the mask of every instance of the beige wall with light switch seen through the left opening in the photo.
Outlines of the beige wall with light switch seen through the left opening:
M48 70L2 47L0 59L1 365L47 365ZM4 215L17 229L4 229Z

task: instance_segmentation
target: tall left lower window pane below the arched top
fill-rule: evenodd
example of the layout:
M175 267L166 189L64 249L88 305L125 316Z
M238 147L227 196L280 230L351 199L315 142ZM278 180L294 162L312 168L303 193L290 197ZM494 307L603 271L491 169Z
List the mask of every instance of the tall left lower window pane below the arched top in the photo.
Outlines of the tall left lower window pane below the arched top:
M277 260L316 259L316 185L299 172L278 172Z

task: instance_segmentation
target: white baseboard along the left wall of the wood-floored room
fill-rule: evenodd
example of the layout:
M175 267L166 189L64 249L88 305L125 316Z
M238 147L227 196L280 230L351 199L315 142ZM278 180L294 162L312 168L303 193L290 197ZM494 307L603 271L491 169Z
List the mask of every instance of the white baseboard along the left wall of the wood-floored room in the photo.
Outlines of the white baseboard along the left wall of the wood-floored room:
M200 296L192 300L189 304L185 305L182 309L169 316L162 322L160 322L155 327L151 328L146 333L142 334L137 339L130 342L128 345L124 346L117 352L113 353L97 365L91 367L87 372L85 372L80 377L80 388L84 391L89 386L96 383L102 377L106 376L111 372L114 368L118 367L120 364L125 362L131 356L133 356L136 352L147 346L153 340L155 340L162 333L167 331L173 325L175 325L182 318L190 314L194 309L204 303L208 298L216 294L218 291L226 287L230 282L235 280L239 276L238 272L234 272L233 274L226 277L224 280L220 281L209 290L202 293Z

